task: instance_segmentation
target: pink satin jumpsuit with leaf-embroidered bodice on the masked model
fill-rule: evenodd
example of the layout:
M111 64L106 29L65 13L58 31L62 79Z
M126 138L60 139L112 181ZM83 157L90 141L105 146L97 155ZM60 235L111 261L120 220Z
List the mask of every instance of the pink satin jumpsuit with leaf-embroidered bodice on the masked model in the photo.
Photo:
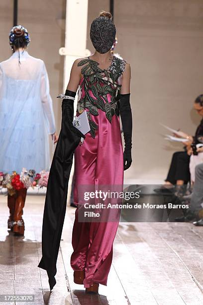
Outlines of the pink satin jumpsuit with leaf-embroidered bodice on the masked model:
M74 203L79 185L120 185L123 190L123 147L119 123L119 90L125 60L113 56L107 70L90 59L82 60L77 116L87 111L91 131L75 150ZM85 104L86 103L86 104ZM107 105L105 105L107 103ZM84 105L85 104L85 105ZM106 286L119 219L113 222L79 222L76 209L71 266L85 270L84 287L91 282ZM109 212L110 213L110 212Z

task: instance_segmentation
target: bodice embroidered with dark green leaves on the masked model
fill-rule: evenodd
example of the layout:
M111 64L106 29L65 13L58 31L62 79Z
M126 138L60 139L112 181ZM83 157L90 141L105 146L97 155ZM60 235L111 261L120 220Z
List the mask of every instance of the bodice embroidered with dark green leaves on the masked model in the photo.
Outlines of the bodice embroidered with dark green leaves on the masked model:
M98 109L105 112L106 119L111 123L113 115L119 116L119 90L121 77L126 61L113 56L108 69L99 68L99 63L88 57L78 63L81 69L80 85L78 88L77 112L81 114L88 109L87 116L90 124L90 134L95 138L98 125L91 120L91 115L98 116Z

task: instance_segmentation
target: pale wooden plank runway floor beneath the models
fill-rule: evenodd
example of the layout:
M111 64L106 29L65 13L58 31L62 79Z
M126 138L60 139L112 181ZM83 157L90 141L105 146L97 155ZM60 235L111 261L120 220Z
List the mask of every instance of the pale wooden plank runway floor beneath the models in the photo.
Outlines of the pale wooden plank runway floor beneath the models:
M25 236L7 230L7 197L0 195L0 294L31 294L35 302L16 305L203 305L203 227L191 223L120 223L113 263L99 295L73 283L70 267L75 208L68 207L50 293L41 259L44 196L28 195Z

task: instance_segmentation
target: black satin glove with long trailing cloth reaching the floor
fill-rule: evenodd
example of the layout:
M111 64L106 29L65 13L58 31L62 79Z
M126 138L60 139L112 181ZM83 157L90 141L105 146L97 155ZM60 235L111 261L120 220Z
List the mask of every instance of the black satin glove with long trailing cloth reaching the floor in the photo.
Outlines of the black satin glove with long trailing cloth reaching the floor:
M72 93L72 95L71 95ZM74 92L66 91L66 95ZM74 101L62 102L62 123L54 152L44 205L42 225L42 258L38 265L47 271L50 290L56 284L56 262L66 213L68 182L73 163L73 154L85 136L73 126Z

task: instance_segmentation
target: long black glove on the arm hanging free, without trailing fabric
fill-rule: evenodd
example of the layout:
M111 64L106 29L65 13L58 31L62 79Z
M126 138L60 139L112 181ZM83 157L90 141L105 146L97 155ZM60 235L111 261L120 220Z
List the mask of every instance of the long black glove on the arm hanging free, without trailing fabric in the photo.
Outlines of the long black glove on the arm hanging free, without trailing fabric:
M132 163L132 111L130 107L130 93L120 94L120 118L123 128L125 149L123 152L124 170Z

